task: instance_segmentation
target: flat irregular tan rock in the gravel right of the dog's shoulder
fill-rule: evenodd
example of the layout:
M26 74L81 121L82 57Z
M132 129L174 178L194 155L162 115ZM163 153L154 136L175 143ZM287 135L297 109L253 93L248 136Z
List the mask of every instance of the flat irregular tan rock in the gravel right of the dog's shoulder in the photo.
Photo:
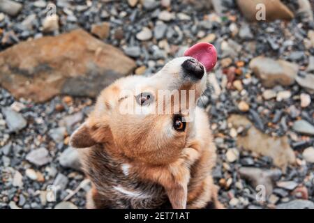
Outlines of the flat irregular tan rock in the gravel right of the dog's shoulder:
M295 155L290 147L287 136L271 137L264 134L249 121L245 116L233 114L228 118L234 128L240 126L248 128L245 136L237 137L238 148L244 148L260 155L266 155L274 160L274 164L285 171L287 164L295 162Z

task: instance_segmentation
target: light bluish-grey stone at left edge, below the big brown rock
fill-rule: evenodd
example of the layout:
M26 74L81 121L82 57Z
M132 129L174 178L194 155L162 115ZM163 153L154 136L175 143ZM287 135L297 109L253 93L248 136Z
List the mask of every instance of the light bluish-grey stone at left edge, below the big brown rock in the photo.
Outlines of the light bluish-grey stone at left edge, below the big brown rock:
M6 125L10 132L18 132L26 127L27 121L22 114L15 112L10 107L4 107L2 112L6 116Z

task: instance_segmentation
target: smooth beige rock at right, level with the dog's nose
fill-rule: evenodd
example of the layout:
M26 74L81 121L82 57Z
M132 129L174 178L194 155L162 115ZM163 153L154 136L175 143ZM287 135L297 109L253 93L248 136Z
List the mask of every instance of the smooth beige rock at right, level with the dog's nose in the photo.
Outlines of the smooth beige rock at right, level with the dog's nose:
M272 87L277 84L289 86L294 83L299 70L296 63L283 60L275 61L264 56L257 56L249 64L254 74L261 79L262 84Z

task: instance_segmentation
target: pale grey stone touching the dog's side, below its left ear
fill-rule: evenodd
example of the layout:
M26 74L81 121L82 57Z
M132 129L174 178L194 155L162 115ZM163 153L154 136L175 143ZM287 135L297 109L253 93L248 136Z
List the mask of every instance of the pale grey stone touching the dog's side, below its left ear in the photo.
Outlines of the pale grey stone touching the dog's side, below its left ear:
M81 169L79 153L75 148L66 148L66 150L61 153L59 162L62 167L68 167L78 171Z

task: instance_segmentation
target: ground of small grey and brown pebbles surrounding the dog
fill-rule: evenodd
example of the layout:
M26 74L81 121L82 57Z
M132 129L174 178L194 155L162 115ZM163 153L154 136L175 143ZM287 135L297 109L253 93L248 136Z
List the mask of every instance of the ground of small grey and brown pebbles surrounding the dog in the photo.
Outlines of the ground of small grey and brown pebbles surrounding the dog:
M93 24L110 22L103 41L135 59L136 75L151 75L197 41L214 43L218 65L200 106L211 116L218 147L214 179L220 187L220 201L226 208L314 207L313 87L309 91L299 82L285 86L276 81L266 87L249 66L252 59L264 55L297 63L299 77L313 72L313 22L297 16L290 22L248 24L234 1L226 1L227 13L220 16L206 7L195 10L188 1L147 0L132 7L137 1L75 0L50 1L57 5L59 16L59 27L54 29L43 26L47 1L19 2L24 7L16 17L0 14L1 50L77 27L98 36ZM292 11L297 10L294 1L286 2ZM0 208L84 208L89 183L77 171L68 136L93 102L91 98L58 96L33 103L16 100L0 88ZM283 167L273 155L241 149L237 139L247 131L230 124L232 114L251 120L265 140L286 137L295 162ZM267 201L255 199L259 182L272 187ZM59 190L56 201L49 202L52 185Z

